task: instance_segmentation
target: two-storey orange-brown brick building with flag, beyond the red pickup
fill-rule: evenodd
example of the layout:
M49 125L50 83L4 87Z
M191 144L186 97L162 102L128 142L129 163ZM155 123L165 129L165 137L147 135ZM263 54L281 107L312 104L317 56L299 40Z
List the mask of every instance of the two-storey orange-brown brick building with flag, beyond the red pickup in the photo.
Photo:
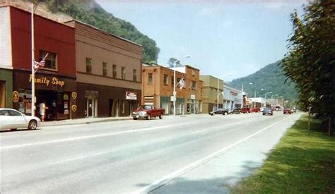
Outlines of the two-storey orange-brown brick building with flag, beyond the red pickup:
M201 113L202 81L199 69L192 66L180 66L176 70L176 114ZM180 80L184 79L184 87ZM174 70L159 65L143 64L142 67L142 103L153 104L165 109L165 114L173 114Z

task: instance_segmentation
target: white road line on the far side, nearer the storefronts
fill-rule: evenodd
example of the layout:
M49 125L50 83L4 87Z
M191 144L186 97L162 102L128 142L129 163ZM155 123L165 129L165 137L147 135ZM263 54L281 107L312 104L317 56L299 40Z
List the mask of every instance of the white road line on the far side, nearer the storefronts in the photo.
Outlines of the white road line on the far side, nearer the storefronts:
M170 127L185 126L185 125L188 125L188 123L182 123L179 125L170 125L170 126L157 126L157 127L151 127L151 128L120 131L120 132L114 132L114 133L103 133L99 135L86 135L86 136L77 137L77 138L66 138L66 139L61 139L61 140L51 140L51 141L45 141L45 142L39 142L39 143L26 143L26 144L21 144L21 145L11 145L11 146L6 146L6 147L1 147L0 152L2 152L2 150L8 150L8 149L13 149L13 148L18 148L18 147L45 145L45 144L50 144L50 143L63 143L63 142L76 141L76 140L85 140L85 139L90 139L90 138L101 138L101 137L106 137L106 136L123 135L126 133L137 133L137 132L143 132L143 131L153 131L153 130L160 129L160 128L170 128Z

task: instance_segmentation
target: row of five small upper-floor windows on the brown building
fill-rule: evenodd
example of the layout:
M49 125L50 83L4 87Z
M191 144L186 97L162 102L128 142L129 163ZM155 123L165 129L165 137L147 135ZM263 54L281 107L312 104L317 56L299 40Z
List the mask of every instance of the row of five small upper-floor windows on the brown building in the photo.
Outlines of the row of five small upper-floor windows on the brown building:
M86 73L92 73L92 59L86 58ZM112 78L117 78L117 65L112 65ZM102 63L102 75L107 76L107 63ZM126 79L126 67L121 67L121 79ZM137 81L137 70L133 69L133 81Z

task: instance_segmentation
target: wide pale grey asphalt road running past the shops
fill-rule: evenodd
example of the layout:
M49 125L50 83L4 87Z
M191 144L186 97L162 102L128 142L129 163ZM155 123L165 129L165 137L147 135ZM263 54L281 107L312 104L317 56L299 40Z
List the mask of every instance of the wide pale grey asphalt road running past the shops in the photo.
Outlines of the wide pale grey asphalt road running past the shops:
M299 116L281 112L274 116L203 114L1 132L0 191L196 193L196 189L207 193L211 182L199 191L187 185L185 178L218 177L223 167L208 167L211 162L221 159L240 164L239 159L268 151ZM243 152L247 149L249 154ZM241 171L221 172L242 177ZM225 190L222 177L213 182L217 193Z

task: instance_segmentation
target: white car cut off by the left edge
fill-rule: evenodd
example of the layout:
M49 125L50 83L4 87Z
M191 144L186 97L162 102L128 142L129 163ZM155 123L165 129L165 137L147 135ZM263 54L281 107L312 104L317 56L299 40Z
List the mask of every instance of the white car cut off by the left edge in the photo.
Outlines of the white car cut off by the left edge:
M15 109L0 109L0 129L36 129L40 122L36 116L25 116Z

